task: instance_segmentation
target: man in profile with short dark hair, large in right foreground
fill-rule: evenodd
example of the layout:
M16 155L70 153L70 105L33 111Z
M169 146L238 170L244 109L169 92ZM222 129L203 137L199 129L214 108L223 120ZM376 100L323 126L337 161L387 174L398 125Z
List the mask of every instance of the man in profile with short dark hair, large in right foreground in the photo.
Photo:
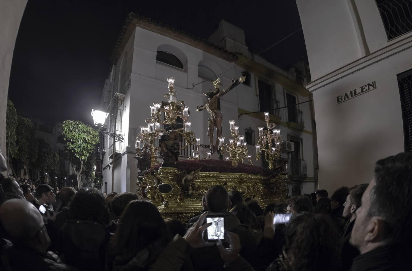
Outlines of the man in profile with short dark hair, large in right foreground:
M411 270L412 152L381 159L356 211L351 271Z

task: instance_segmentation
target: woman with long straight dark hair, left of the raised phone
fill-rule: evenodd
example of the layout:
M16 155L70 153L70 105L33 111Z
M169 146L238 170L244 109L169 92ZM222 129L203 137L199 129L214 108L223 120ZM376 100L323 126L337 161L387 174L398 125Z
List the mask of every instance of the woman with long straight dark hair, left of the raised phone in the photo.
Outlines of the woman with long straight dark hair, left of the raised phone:
M165 222L149 201L131 201L120 217L106 270L148 270L170 241Z

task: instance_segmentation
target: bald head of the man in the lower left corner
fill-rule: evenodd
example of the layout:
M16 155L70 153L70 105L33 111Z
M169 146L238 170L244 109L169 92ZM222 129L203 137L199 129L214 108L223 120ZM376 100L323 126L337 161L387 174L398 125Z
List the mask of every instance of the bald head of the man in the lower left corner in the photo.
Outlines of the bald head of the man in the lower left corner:
M10 199L0 206L0 220L14 242L26 244L44 226L43 217L28 201Z

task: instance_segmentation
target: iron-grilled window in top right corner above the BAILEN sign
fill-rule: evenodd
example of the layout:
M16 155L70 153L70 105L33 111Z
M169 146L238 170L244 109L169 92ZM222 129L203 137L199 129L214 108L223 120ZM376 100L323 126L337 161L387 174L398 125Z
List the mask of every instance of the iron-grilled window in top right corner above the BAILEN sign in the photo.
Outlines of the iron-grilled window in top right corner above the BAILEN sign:
M412 30L412 0L376 0L388 40Z

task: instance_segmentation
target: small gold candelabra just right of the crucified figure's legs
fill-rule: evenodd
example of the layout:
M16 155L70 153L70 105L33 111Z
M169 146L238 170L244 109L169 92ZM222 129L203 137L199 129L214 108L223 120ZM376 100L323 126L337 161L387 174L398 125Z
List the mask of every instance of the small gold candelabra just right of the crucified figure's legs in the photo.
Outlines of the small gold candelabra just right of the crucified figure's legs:
M248 148L246 147L245 136L239 135L239 126L234 126L236 121L230 120L230 133L232 138L229 143L225 143L225 137L219 138L219 152L223 155L225 152L229 153L229 157L225 157L226 161L232 160L232 166L237 166L243 163L243 159L248 159L248 163L252 164L251 155L248 155ZM208 153L209 157L209 153Z

